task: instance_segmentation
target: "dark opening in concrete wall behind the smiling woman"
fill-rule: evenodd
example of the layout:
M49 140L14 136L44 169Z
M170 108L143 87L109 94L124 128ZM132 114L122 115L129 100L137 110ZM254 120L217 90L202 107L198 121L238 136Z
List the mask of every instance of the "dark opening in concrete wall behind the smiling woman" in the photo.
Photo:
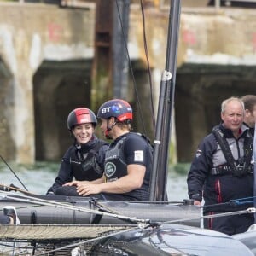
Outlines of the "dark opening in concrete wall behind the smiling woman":
M72 139L67 115L90 108L91 61L44 61L33 78L36 160L61 160Z

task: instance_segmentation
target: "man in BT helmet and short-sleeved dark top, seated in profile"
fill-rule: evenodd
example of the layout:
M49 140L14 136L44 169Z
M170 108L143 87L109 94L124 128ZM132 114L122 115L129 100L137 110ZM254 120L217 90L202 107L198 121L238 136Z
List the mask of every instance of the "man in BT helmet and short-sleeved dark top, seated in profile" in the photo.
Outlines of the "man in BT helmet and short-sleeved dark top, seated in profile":
M67 183L77 186L79 195L103 200L148 200L152 150L148 141L131 132L132 108L128 102L113 99L97 113L102 131L113 139L106 152L104 177L92 182Z

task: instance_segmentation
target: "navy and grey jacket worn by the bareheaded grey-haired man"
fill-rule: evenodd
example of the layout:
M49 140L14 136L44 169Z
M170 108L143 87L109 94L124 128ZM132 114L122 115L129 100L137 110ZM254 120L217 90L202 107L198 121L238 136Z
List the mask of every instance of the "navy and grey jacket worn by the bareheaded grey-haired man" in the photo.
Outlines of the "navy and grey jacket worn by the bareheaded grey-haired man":
M234 159L241 159L244 156L244 139L248 137L247 126L241 126L241 135L238 139L233 136L229 129L225 129L224 125L218 125L218 128L223 131ZM210 133L199 145L189 170L187 178L189 198L201 201L203 197L205 206L209 206L253 196L253 174L247 173L241 177L236 177L231 172L218 175L211 174L213 167L226 164L227 160L219 144L214 135ZM252 207L252 205L225 204L205 207L204 212L230 212L247 207Z

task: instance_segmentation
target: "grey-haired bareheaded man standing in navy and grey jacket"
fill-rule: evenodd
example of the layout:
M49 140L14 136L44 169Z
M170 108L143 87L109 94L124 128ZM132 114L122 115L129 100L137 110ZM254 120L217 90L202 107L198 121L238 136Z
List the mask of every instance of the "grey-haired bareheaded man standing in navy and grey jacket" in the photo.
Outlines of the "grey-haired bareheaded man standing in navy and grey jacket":
M244 103L233 96L221 105L220 125L204 137L192 161L188 177L189 198L201 206L204 215L226 213L220 218L204 219L204 227L233 235L253 224L253 214L228 214L253 207L230 201L253 196L253 137L243 124Z

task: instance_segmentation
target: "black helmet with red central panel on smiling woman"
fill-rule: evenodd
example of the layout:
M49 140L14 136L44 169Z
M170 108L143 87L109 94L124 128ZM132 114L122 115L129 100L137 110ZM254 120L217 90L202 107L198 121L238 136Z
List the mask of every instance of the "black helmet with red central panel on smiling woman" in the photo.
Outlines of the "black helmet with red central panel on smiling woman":
M89 108L75 108L68 114L67 128L71 130L74 125L91 123L97 125L96 115Z

